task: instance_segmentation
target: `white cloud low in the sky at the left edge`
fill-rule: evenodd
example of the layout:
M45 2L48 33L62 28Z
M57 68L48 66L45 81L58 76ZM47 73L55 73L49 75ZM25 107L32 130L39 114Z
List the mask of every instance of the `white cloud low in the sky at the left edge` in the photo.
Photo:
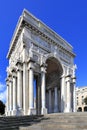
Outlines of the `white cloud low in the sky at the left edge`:
M0 100L6 102L6 85L0 82Z

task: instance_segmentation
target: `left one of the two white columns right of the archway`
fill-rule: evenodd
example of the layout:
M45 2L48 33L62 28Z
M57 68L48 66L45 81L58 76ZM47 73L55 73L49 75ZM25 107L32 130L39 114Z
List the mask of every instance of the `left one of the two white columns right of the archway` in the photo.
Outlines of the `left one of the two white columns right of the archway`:
M67 83L67 108L66 112L71 112L71 91L70 91L70 82L71 82L71 75L66 77Z

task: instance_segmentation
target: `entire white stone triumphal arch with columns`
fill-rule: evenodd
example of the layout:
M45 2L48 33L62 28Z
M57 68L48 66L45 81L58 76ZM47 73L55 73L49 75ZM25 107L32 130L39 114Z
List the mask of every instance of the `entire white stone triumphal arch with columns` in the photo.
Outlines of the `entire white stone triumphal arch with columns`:
M6 115L75 111L72 46L24 10L7 58Z

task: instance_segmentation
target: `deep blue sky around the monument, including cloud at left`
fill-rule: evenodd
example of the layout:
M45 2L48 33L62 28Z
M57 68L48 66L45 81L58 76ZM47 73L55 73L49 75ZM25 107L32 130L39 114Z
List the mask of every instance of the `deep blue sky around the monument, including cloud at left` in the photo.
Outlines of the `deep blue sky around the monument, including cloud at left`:
M77 86L87 85L87 0L0 1L0 99L6 99L6 55L18 18L26 8L68 41L76 53Z

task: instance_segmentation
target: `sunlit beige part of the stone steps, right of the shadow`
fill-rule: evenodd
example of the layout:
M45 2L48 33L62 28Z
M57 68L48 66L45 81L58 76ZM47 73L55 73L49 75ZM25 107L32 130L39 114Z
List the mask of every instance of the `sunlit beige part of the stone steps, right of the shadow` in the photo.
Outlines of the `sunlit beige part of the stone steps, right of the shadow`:
M87 113L48 114L40 122L20 130L87 130Z

